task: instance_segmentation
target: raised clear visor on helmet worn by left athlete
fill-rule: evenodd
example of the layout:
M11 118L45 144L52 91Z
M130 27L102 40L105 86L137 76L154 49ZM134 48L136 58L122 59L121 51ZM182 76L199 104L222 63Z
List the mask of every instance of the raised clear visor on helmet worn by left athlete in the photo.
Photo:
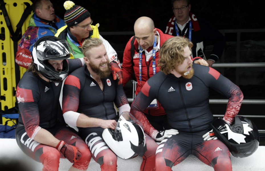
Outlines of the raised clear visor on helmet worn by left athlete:
M70 53L75 54L74 50L66 40L58 40L56 42L43 42L42 47L36 50L39 60L62 60L70 57Z

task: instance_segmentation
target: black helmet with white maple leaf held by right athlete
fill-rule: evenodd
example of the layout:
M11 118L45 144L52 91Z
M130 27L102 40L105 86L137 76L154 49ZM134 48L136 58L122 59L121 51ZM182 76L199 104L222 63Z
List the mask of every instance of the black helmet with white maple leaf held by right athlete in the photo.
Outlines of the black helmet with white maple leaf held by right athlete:
M235 116L230 126L222 118L217 118L211 126L215 136L228 147L235 157L250 156L258 148L260 141L258 129L246 117Z

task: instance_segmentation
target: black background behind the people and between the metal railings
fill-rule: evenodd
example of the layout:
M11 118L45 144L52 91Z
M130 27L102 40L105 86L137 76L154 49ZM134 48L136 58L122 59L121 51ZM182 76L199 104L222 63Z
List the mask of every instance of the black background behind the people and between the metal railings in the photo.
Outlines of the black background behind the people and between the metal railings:
M65 1L51 0L56 10L56 15L64 18ZM155 27L163 32L166 23L173 15L170 0L97 0L97 1L73 1L91 13L93 24L99 23L100 34L110 42L117 51L119 60L122 62L123 50L131 35L106 35L104 32L130 31L137 18L142 16L154 20ZM209 21L218 30L225 29L260 29L264 24L265 1L252 0L191 0L191 12L196 17ZM265 62L265 33L250 32L241 33L240 38L240 61L238 62ZM236 33L225 34L227 45L224 50L224 62L236 62ZM206 48L206 56L211 52L211 43ZM220 61L218 61L220 62ZM235 83L235 68L215 68L224 76ZM239 87L244 93L244 99L265 99L265 68L239 68ZM127 97L132 97L132 85L128 82L124 87ZM210 99L226 99L216 91L210 91ZM226 110L225 104L211 104L213 114L223 115ZM265 115L264 105L243 104L239 115ZM265 130L264 118L250 118L256 123L258 129Z

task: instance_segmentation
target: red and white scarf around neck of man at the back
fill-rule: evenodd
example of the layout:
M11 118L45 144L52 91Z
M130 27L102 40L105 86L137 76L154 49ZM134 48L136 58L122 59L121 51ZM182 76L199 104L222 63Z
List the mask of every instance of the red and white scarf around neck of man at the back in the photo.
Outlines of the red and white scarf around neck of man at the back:
M193 13L189 13L189 17L191 18L191 23L194 32L201 30L199 22L195 15ZM167 27L166 27L166 34L172 35L173 29L175 29L174 24L175 24L176 17L173 15L171 19L168 21Z

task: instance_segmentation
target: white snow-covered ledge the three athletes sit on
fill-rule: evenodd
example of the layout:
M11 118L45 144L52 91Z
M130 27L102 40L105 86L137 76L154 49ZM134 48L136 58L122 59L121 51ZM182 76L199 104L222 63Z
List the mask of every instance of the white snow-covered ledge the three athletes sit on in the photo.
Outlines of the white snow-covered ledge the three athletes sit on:
M42 170L42 164L36 162L26 156L20 148L17 146L15 139L0 139L0 164L4 162L4 159L20 161L25 164L28 164L32 170L36 171ZM235 158L231 156L233 171L246 171L246 170L255 170L255 171L264 171L265 170L265 146L259 146L258 150L249 157L246 158ZM123 160L118 158L118 171L138 171L140 164L142 162L141 157L136 157L131 160ZM60 159L59 171L66 171L70 168L72 164L67 159ZM0 168L0 170L2 170ZM87 170L100 171L99 164L97 164L93 158L90 161L89 167ZM207 166L195 156L190 155L180 164L172 168L175 170L200 170L200 171L213 171L213 168Z

